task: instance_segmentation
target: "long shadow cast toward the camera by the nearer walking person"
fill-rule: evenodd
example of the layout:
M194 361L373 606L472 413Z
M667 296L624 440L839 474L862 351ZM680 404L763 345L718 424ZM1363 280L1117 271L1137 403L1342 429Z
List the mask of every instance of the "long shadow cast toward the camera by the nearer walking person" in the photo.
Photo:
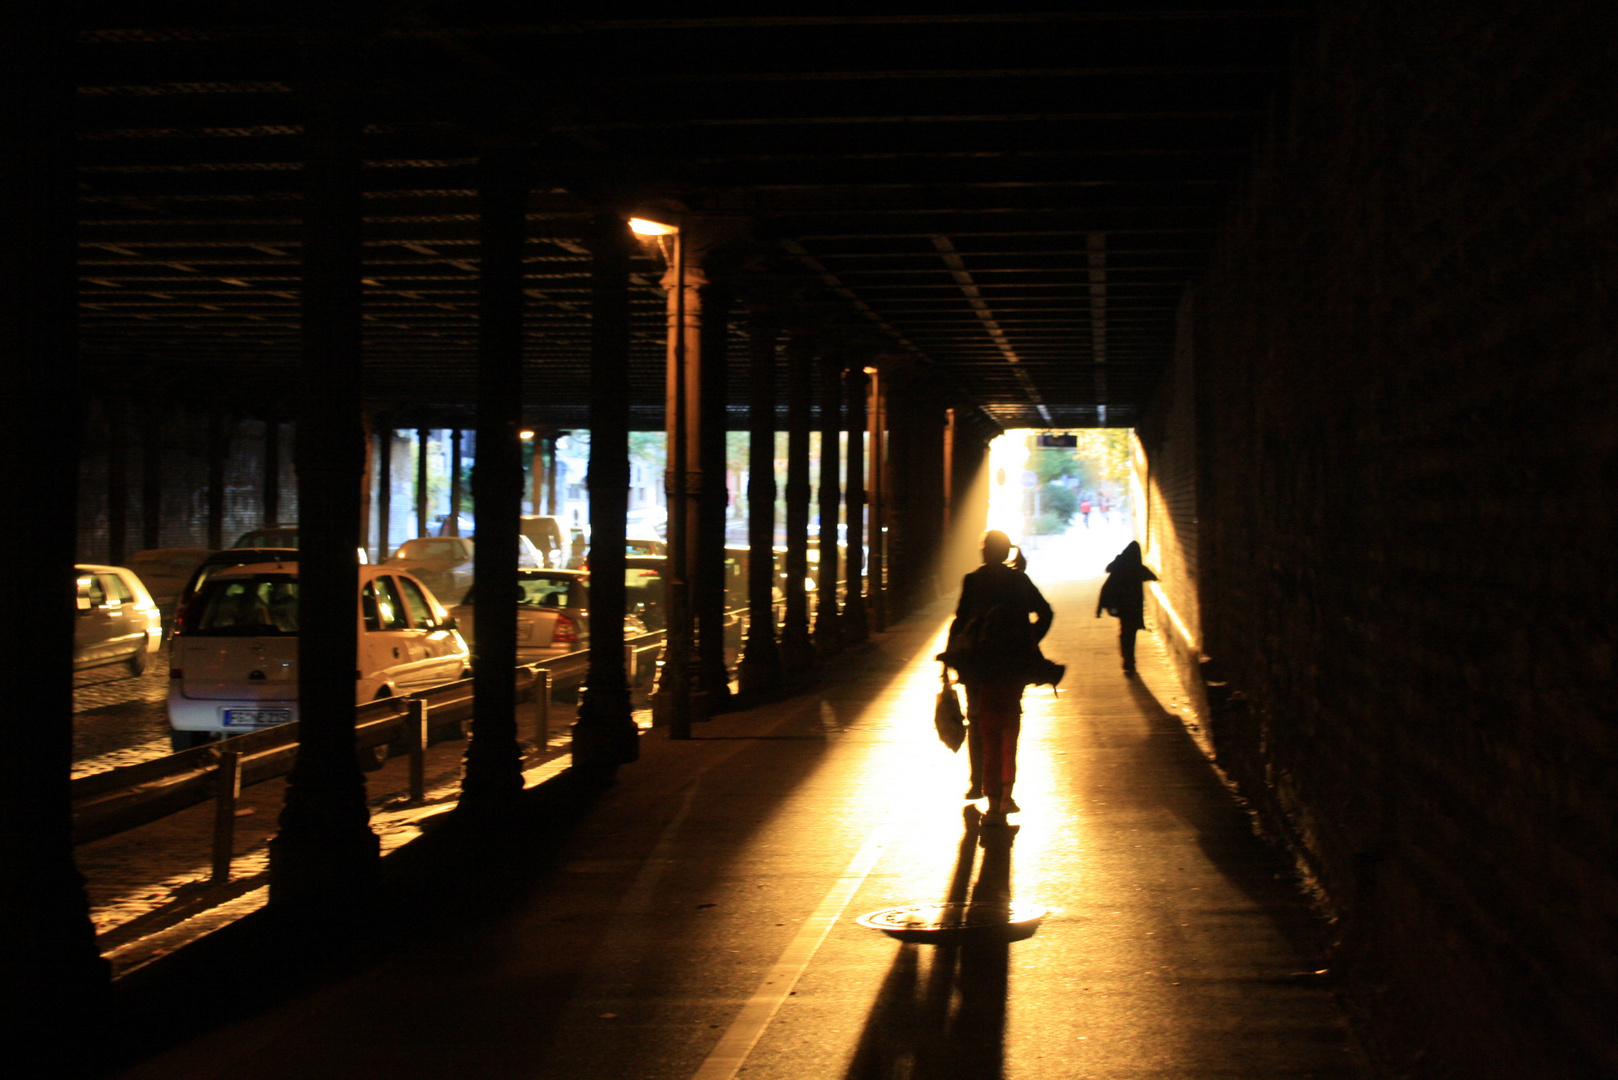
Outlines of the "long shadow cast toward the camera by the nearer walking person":
M1016 829L981 827L976 808L950 878L947 902L1011 900ZM977 879L972 863L982 850ZM989 936L961 946L900 944L845 1077L848 1080L1000 1080L1005 1075L1010 944Z

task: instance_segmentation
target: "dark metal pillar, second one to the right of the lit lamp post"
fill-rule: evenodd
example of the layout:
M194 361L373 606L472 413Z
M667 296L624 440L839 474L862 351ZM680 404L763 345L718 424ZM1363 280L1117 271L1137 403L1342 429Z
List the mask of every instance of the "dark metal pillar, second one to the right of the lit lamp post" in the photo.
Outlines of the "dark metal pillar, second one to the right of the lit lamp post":
M778 317L760 308L748 322L748 641L736 678L741 693L781 685L775 648L775 338Z

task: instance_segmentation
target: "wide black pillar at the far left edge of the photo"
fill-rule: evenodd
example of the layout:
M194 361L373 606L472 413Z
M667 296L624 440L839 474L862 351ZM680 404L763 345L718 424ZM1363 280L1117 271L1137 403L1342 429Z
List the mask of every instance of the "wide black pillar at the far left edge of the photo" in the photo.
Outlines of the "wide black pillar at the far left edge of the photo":
M0 1010L6 1070L18 1077L97 1072L110 1041L108 967L95 946L84 879L73 861L73 628L79 429L74 325L73 19L18 6L0 34L0 340L6 392L0 424L13 507L28 528L0 536L8 596L29 612L0 672L26 722L0 743ZM49 449L49 452L42 452ZM121 447L113 445L116 455Z

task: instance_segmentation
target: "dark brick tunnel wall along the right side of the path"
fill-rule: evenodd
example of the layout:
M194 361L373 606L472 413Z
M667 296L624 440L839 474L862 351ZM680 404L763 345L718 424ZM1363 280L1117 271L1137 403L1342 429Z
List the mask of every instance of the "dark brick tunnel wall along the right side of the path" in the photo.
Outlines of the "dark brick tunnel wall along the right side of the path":
M1142 424L1218 761L1400 1075L1618 1070L1615 18L1322 5Z

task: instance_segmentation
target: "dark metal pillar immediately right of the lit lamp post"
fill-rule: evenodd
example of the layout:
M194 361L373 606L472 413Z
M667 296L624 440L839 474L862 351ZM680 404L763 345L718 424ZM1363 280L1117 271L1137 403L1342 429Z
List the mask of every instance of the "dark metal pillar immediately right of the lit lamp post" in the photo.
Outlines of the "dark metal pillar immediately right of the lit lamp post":
M702 288L701 413L702 439L697 471L697 534L691 594L696 599L697 716L710 716L730 698L730 665L725 659L725 512L730 502L725 468L726 398L730 397L730 285L710 280Z

